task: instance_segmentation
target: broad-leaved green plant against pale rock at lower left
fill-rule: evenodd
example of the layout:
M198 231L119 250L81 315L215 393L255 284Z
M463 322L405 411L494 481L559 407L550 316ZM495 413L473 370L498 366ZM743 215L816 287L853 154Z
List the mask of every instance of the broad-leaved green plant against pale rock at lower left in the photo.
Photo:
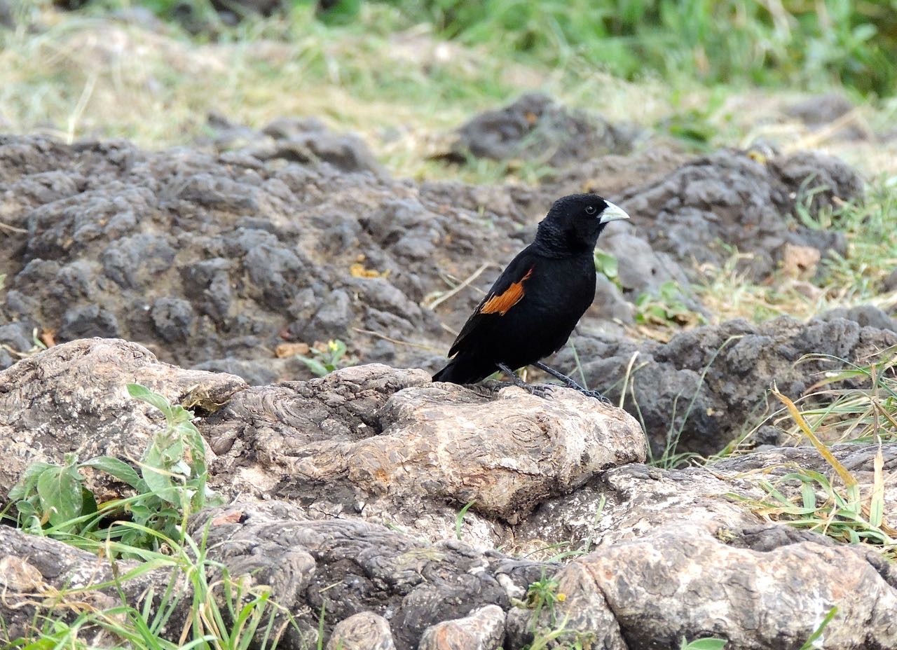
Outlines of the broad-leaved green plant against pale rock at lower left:
M164 428L136 463L140 473L105 455L79 463L69 454L62 465L32 464L9 492L22 528L62 539L118 539L126 546L154 548L155 533L178 539L188 516L221 502L206 484L205 447L193 414L144 386L129 384L127 391L165 416ZM135 496L98 505L83 485L82 470L87 468L126 483Z

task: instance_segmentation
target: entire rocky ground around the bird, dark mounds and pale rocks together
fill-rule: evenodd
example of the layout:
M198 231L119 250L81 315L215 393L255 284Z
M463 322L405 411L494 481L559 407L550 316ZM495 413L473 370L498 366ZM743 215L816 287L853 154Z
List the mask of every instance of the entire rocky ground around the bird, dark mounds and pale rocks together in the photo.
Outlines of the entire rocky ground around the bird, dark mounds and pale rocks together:
M213 488L233 502L193 525L298 618L287 647L313 643L325 601L327 647L343 650L523 648L559 621L583 647L798 648L832 605L826 648L897 645L890 562L745 506L765 495L757 468L825 472L812 448L766 426L753 454L644 464L673 438L712 455L771 411L773 381L797 397L838 359L897 345L871 307L635 335L640 297L671 282L710 316L691 284L734 248L753 282L845 255L840 232L791 215L860 198L856 171L817 152L644 146L635 127L542 96L475 117L440 154L538 152L559 168L539 186L392 178L359 138L313 120L257 132L217 116L209 132L161 152L0 136L0 493L73 450L139 457L157 422L126 397L136 381L200 416ZM554 198L583 190L632 220L600 242L619 270L599 276L579 362L570 349L554 362L625 410L569 390L432 385L501 265ZM359 365L313 379L297 352L337 339ZM835 454L871 485L874 452ZM897 447L883 457L893 472ZM109 572L59 542L0 535L12 629L46 604L28 594ZM578 552L561 562L552 548ZM550 612L522 602L545 576L564 594Z

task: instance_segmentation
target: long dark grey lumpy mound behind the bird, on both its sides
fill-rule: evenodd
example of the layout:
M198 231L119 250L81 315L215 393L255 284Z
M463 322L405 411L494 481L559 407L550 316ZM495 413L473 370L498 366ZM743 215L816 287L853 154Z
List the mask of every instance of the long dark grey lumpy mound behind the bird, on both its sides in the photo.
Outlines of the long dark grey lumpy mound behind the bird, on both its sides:
M0 139L0 368L37 330L45 342L126 338L253 384L310 377L292 356L302 347L279 346L329 339L355 362L433 370L560 192L394 180L319 125L282 120L266 133L222 153ZM618 186L621 160L606 159ZM811 213L860 191L852 171L812 153L761 164L718 152L672 171L675 158L652 160L614 196L634 225L612 224L601 239L620 261L619 284L600 283L583 332L631 319L631 301L665 282L687 297L694 260L728 255L718 241L753 251L761 274L788 246L839 249L839 233L802 230L787 213L817 180L830 189L814 194ZM654 180L639 186L645 169ZM587 349L583 360L607 353ZM655 435L659 420L649 426Z

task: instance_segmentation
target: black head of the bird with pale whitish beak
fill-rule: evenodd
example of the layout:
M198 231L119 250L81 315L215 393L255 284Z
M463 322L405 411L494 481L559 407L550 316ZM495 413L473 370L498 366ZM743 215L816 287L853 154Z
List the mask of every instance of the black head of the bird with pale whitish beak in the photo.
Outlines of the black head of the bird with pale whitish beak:
M629 219L629 215L601 196L562 196L539 222L536 245L553 255L592 251L605 226L621 219Z

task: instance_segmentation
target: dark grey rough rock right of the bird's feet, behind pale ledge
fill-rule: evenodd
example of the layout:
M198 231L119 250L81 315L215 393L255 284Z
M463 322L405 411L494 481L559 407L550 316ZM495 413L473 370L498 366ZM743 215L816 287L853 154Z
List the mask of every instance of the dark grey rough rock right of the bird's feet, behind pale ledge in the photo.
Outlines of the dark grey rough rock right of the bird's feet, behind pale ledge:
M614 403L629 375L624 408L644 422L654 455L667 448L712 455L745 427L761 423L759 413L774 405L767 394L773 380L796 399L820 373L868 363L897 344L897 335L855 320L804 324L783 316L761 325L744 320L706 325L663 344L606 334L581 336L574 343L588 386ZM562 372L576 368L569 350L558 353L556 364ZM853 379L845 386L861 384Z

